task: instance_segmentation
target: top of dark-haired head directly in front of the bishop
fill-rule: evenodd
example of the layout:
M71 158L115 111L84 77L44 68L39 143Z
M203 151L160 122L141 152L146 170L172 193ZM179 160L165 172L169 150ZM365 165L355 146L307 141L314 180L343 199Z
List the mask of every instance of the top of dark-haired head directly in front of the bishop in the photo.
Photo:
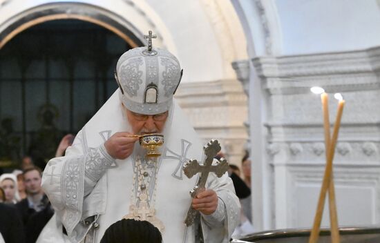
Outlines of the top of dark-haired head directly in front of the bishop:
M162 243L160 231L147 221L122 219L106 229L100 243Z

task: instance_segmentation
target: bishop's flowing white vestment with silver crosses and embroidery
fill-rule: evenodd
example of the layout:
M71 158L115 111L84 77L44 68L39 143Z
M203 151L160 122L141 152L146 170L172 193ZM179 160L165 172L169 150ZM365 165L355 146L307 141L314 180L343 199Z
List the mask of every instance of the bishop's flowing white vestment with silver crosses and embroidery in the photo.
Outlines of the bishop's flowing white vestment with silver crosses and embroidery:
M137 183L133 183L133 171L135 151L140 145L137 142L133 154L124 160L114 160L104 148L104 142L114 133L131 132L118 92L79 131L66 155L48 162L42 187L55 216L37 242L99 242L108 226L129 214L129 206L135 204L133 185ZM218 195L217 211L202 215L193 226L184 224L191 205L189 191L198 177L187 178L182 166L188 159L203 159L203 144L175 101L169 110L164 139L157 177L153 176L149 184L155 216L165 227L163 242L196 242L199 223L205 242L229 242L239 222L240 204L227 173L220 178L210 173L207 181L206 187ZM67 235L62 233L62 224Z

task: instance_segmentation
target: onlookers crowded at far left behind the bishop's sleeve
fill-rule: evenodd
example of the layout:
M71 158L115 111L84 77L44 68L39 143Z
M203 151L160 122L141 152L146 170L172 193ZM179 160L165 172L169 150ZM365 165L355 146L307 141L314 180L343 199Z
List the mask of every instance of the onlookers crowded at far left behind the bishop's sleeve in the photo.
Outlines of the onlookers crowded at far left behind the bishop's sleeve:
M64 155L73 137L69 134L61 139L57 157ZM53 207L41 188L43 169L25 155L20 168L0 175L0 242L34 243L53 216Z

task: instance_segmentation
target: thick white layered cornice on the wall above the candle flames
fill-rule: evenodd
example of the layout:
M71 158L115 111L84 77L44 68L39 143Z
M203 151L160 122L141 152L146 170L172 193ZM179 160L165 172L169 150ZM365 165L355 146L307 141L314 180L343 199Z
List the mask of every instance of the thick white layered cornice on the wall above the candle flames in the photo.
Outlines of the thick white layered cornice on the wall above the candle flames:
M336 90L380 88L380 47L314 55L251 59L264 86L272 94L305 93L311 86Z

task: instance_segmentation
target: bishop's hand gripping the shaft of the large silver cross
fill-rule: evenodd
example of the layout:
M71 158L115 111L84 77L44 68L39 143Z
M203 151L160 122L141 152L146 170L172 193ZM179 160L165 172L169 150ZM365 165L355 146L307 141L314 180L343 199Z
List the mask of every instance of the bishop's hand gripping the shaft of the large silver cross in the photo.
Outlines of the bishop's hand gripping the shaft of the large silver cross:
M207 189L193 198L191 206L205 215L210 215L216 211L218 196L215 191Z

